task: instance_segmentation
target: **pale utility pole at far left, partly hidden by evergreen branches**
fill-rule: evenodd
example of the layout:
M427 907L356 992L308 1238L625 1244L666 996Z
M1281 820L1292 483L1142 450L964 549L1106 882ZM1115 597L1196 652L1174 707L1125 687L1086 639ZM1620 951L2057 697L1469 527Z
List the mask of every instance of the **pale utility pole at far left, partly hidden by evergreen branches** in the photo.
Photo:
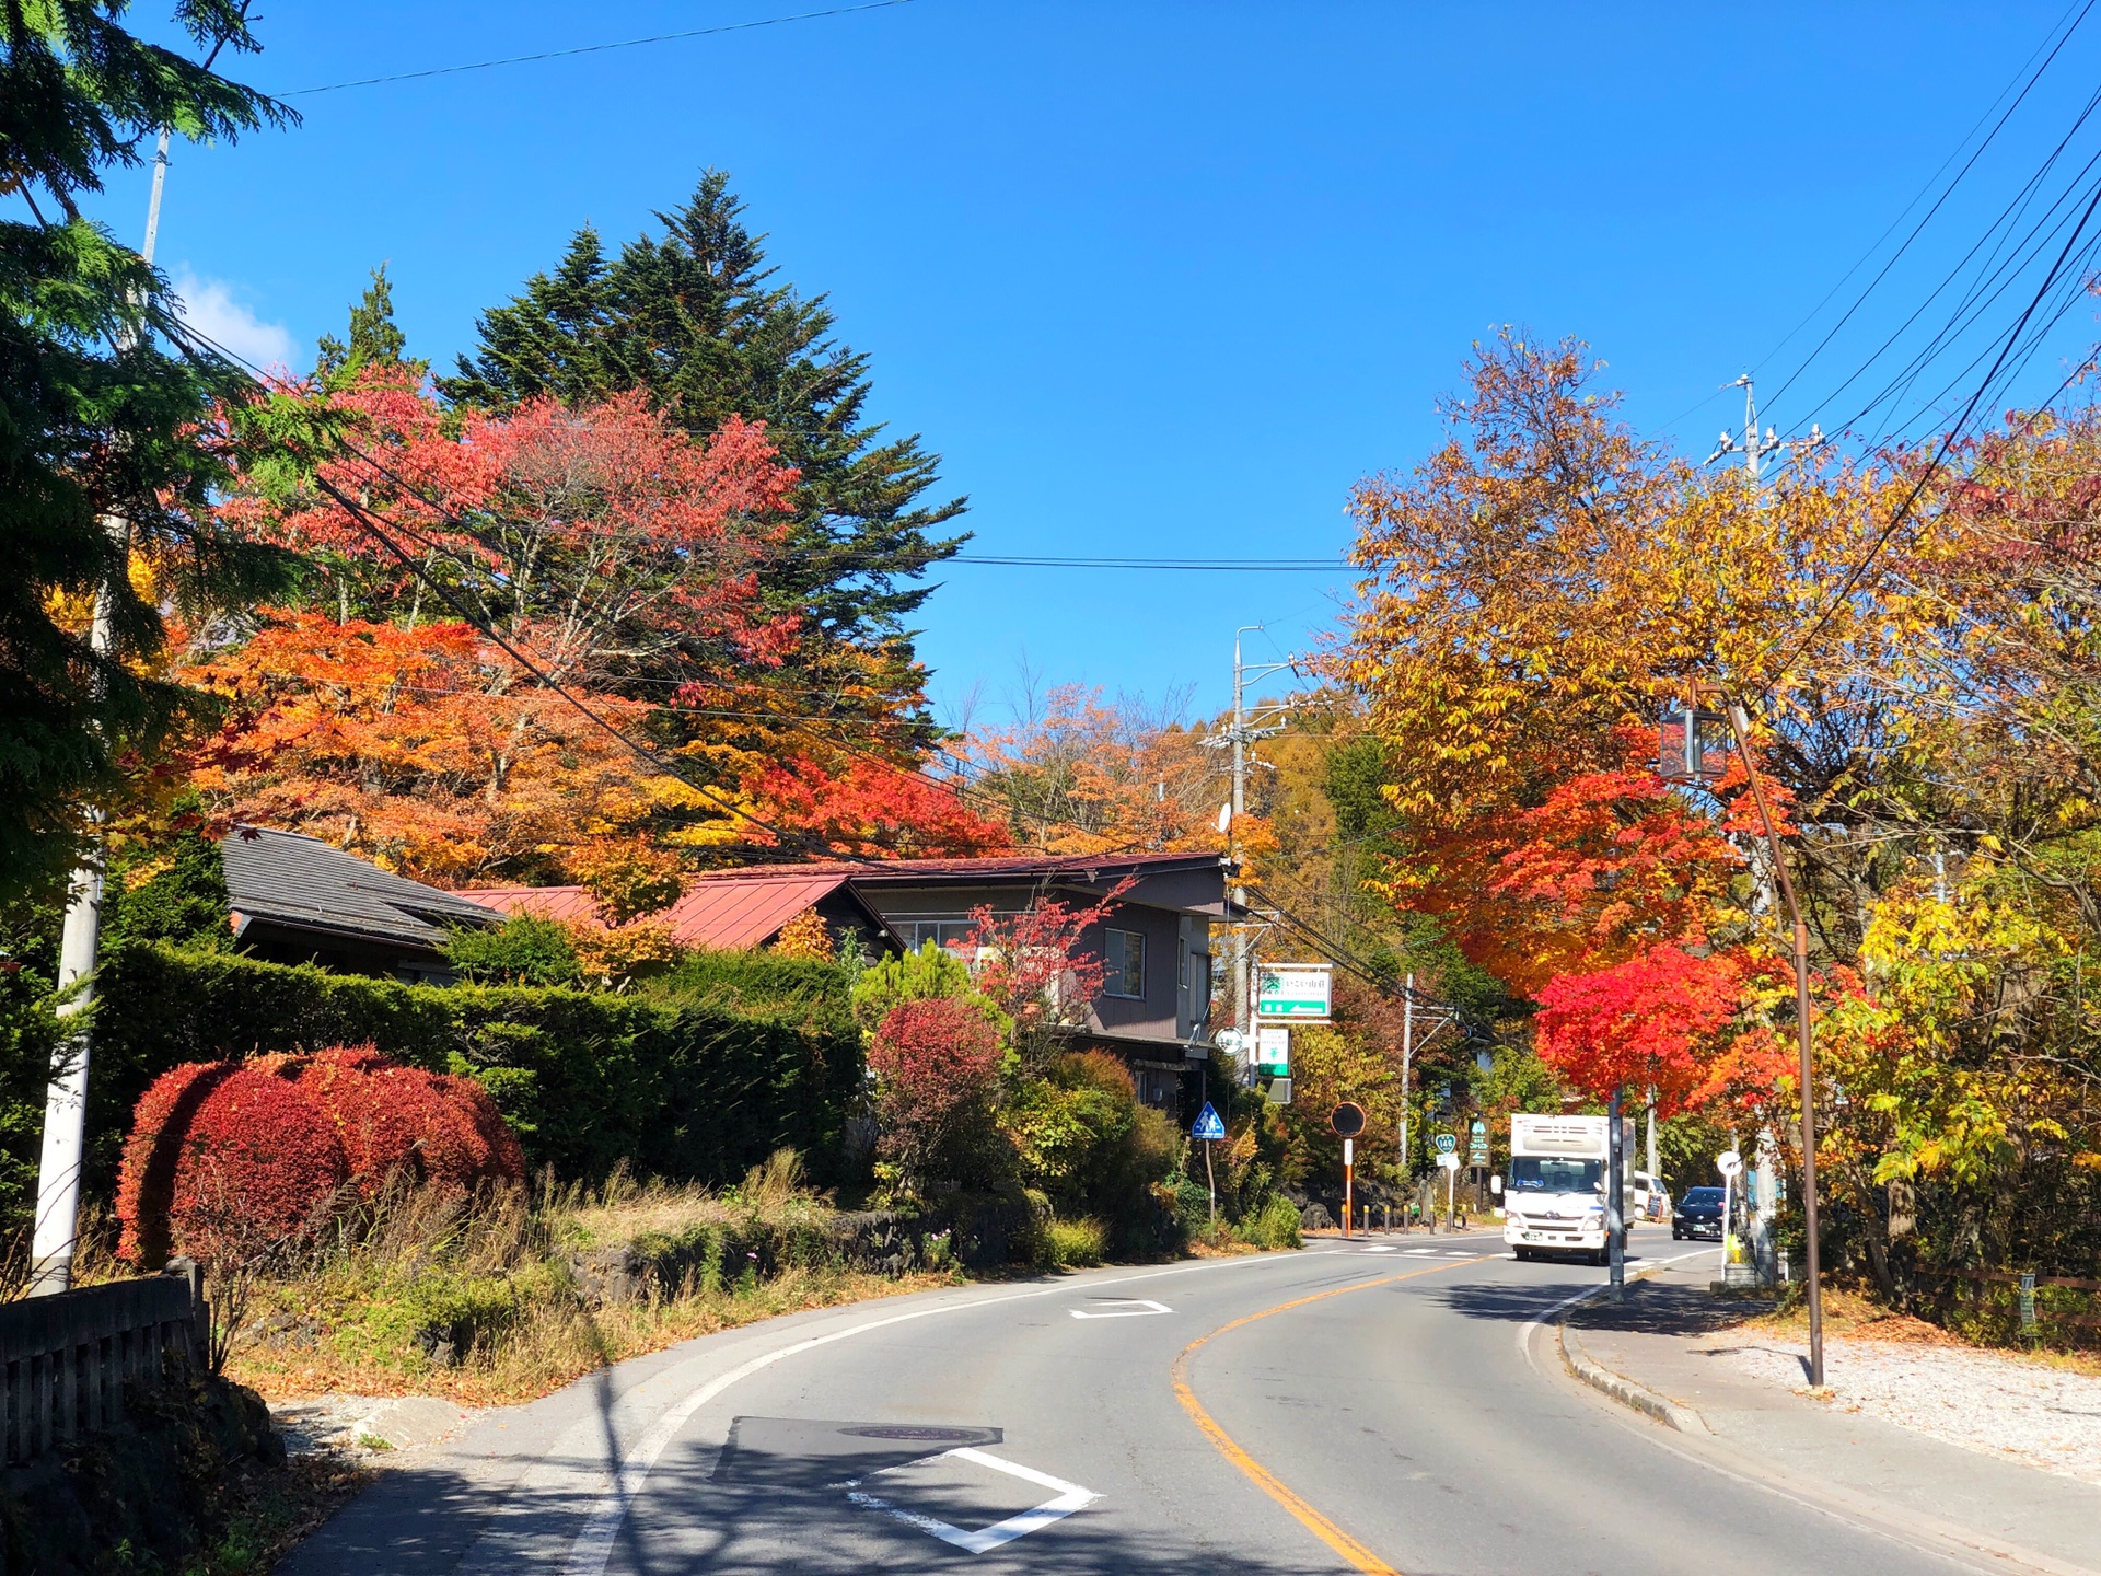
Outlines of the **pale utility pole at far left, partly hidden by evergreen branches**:
M214 50L216 55L216 50ZM139 256L153 263L160 240L160 193L168 181L168 128L160 128L153 149L153 195L145 210L145 246ZM118 353L132 349L130 330L118 332ZM111 574L126 572L130 557L130 525L122 515L103 515L103 532L111 546ZM95 620L88 624L88 649L111 658L116 639L116 590L109 578L95 590ZM88 807L88 820L101 826L101 811ZM59 931L59 1053L53 1059L50 1084L44 1088L44 1149L36 1170L36 1229L29 1240L29 1294L48 1297L74 1284L74 1246L80 1227L80 1158L88 1137L88 1028L74 1025L95 1002L95 954L103 927L103 847L97 830L86 857L74 866L65 891L65 927Z

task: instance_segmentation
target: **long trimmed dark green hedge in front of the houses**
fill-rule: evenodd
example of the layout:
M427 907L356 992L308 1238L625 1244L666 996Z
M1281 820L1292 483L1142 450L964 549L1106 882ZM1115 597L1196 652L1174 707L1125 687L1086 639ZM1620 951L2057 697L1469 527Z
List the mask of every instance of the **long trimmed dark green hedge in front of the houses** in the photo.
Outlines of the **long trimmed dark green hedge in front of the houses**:
M845 971L784 958L727 954L647 994L601 994L399 986L130 941L105 956L99 983L97 1191L113 1185L139 1095L183 1061L370 1040L477 1076L536 1170L588 1181L620 1160L645 1177L733 1181L782 1145L824 1173L861 1084Z

